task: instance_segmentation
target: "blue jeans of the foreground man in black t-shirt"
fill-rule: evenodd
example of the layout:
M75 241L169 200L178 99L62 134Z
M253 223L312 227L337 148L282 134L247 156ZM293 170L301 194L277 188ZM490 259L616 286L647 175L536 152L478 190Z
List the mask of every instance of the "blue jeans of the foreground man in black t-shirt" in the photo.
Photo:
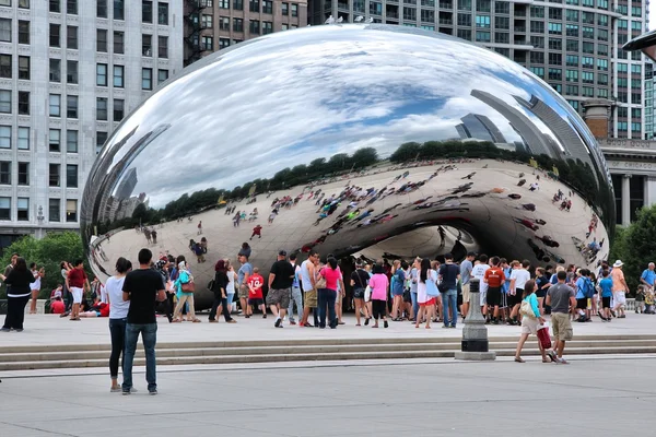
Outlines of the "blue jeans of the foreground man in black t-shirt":
M155 343L157 342L157 323L128 323L126 326L126 351L124 358L124 383L122 391L132 388L132 363L137 351L137 341L141 333L143 349L145 351L145 380L148 391L157 389L157 377L155 370Z

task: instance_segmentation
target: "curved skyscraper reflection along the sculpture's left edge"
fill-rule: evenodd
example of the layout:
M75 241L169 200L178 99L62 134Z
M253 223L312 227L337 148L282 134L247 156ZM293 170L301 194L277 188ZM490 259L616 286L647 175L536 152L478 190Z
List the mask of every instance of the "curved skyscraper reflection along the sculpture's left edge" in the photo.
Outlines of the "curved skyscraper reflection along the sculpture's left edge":
M139 156L139 153L148 145L150 144L153 140L155 140L157 137L160 137L163 132L165 132L168 128L171 127L171 125L161 125L159 127L156 127L155 129L153 129L151 132L145 133L143 137L141 137L138 141L134 142L134 144L132 144L132 146L130 146L130 149L125 153L124 157L117 162L116 164L114 164L114 166L112 167L112 169L107 173L107 175L102 179L101 188L98 190L99 196L96 197L96 199L98 199L98 204L94 205L94 210L97 211L97 217L99 222L106 222L106 221L113 221L114 217L119 216L119 215L125 215L124 213L120 213L119 210L121 208L120 202L118 202L117 205L110 204L114 203L114 201L110 201L110 199L113 197L117 197L117 194L112 194L114 191L114 187L117 186L118 181L120 180L122 184L124 177L131 179L134 178L133 182L134 186L137 185L137 173L132 173L130 170L128 170L126 173L126 168L132 163L132 161L134 161L137 158L137 156ZM130 181L126 182L126 184L131 184ZM129 185L125 186L125 189L130 191L134 190L134 187L129 188ZM120 200L120 199L117 199ZM112 212L113 208L116 208L117 211L116 212Z

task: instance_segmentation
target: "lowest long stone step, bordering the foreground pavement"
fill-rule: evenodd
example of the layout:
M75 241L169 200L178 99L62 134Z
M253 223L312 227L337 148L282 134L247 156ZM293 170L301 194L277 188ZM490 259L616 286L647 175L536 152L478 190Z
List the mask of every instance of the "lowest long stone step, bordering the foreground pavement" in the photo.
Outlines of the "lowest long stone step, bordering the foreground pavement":
M266 355L209 355L190 357L159 357L159 365L192 365L192 364L235 364L235 363L282 363L282 362L314 362L314 361L351 361L351 359L409 359L409 358L448 358L456 350L449 351L387 351L387 352L339 352L332 354L266 354ZM495 350L497 356L513 356L515 349ZM567 347L567 355L601 355L601 354L653 354L656 346L616 346L616 347ZM539 351L526 349L524 356L538 355ZM134 366L144 366L144 358L136 358ZM107 357L103 359L66 359L46 362L13 362L0 363L0 371L34 370L55 368L105 367Z

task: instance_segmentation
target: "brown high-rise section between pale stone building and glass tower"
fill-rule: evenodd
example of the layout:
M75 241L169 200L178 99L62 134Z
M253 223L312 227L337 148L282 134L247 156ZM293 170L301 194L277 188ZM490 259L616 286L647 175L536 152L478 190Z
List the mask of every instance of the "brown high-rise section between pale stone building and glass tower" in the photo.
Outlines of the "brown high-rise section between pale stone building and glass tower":
M185 0L185 64L215 50L307 25L307 0Z

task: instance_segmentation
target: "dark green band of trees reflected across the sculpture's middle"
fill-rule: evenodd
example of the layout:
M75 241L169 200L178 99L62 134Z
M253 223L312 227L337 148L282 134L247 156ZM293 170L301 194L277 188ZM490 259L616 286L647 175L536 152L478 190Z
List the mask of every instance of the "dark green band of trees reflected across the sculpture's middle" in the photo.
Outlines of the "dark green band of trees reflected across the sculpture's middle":
M511 144L508 144L511 146ZM598 211L605 222L614 221L613 197L610 186L604 175L596 176L589 164L581 160L554 160L548 155L531 155L525 152L519 145L515 151L500 149L490 141L426 141L424 143L408 142L401 144L389 157L395 164L406 164L413 161L445 160L445 158L487 158L522 162L527 165L531 160L537 162L538 166L550 173L550 176L558 178L572 190L577 191L584 199L595 202L599 206ZM262 193L288 189L294 186L307 185L313 181L320 181L331 177L339 176L355 169L363 169L378 163L380 160L375 149L360 149L352 155L340 153L332 155L329 160L316 158L309 164L300 164L294 167L288 167L278 172L270 179L259 178L237 186L232 190L208 188L202 191L196 191L191 194L185 193L178 199L171 201L163 209L149 209L140 204L134 210L132 217L117 221L110 225L112 228L119 226L132 227L137 224L156 224L161 221L171 221L189 214L196 214L210 208L215 208L219 200L225 201L244 199L249 196L251 188L254 192ZM557 176L558 173L558 176ZM599 186L598 186L599 184ZM101 233L107 231L108 224L101 225Z

